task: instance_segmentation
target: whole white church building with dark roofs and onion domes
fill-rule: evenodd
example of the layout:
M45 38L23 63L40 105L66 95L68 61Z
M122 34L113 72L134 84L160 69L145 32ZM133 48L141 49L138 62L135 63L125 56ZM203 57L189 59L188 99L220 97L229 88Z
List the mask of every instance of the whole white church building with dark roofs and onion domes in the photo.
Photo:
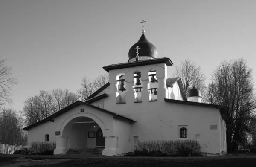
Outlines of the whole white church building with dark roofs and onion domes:
M197 140L201 151L226 151L226 106L201 103L195 87L184 92L180 78L167 78L169 58L158 58L145 31L128 62L104 66L109 83L48 118L23 128L32 141L56 141L54 154L103 148L102 155L134 151L136 141ZM29 147L29 146L28 146Z

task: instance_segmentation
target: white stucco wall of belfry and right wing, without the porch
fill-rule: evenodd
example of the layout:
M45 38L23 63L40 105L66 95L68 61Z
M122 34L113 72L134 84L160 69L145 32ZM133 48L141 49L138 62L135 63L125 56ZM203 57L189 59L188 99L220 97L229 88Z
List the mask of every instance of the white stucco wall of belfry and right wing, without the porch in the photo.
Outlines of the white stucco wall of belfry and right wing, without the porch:
M125 78L129 81L128 76L134 71L140 71L142 75L147 75L150 69L156 69L157 74L167 78L166 66L158 67L151 65L111 70L109 72L110 83L115 82L115 77L119 73L124 73ZM179 128L186 127L188 130L187 139L198 140L201 143L202 151L220 153L222 149L225 149L225 124L220 124L219 109L164 101L163 97L171 98L171 92L174 94L173 99L183 100L177 83L173 85L172 89L168 88L167 96L161 95L162 98L157 98L157 101L142 100L141 103L134 103L126 96L125 104L116 104L116 101L112 99L112 97L115 98L113 93L115 90L111 86L109 87L109 97L102 99L105 104L104 107L137 121L131 125L132 141L134 136L138 136L139 140L179 140ZM157 92L157 96L159 95ZM211 125L216 126L217 129L211 129ZM130 151L132 150L134 148Z

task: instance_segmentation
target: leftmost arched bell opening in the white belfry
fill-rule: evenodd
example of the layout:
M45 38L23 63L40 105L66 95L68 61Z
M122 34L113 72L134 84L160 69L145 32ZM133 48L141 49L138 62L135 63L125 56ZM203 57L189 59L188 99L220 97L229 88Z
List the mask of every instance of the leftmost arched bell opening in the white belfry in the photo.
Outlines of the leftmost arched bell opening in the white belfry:
M121 73L116 75L116 104L124 104L126 103L126 82L125 82L125 74Z

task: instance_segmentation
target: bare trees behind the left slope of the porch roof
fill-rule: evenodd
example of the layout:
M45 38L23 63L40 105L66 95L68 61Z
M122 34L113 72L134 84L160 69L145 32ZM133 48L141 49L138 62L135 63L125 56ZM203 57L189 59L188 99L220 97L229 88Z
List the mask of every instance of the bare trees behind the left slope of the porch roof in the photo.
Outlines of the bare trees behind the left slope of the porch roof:
M20 113L24 117L24 123L29 126L49 117L77 100L78 95L69 92L67 89L54 89L49 92L40 90L39 95L26 99L23 110Z

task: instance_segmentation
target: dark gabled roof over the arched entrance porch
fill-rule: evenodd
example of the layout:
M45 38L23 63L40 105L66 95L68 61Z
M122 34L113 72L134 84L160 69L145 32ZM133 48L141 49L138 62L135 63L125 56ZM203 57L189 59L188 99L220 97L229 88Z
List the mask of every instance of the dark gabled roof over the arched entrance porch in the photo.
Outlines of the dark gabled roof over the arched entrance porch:
M47 117L47 118L45 118L45 119L43 119L43 120L41 120L41 121L38 121L38 122L36 122L35 124L29 125L29 126L27 126L27 127L24 127L23 130L29 130L30 128L36 127L37 125L43 124L44 122L52 121L55 117L57 117L57 116L63 114L64 112L69 111L70 109L73 109L74 107L76 107L76 106L78 106L78 105L80 105L80 104L84 104L84 105L86 105L86 106L88 106L88 107L91 107L91 108L94 108L94 109L98 109L99 111L105 112L105 113L107 113L107 114L111 114L111 115L113 115L113 116L115 116L115 117L124 118L124 119L127 119L127 120L129 120L129 121L134 121L134 122L135 122L135 120L133 120L133 119L131 119L131 118L128 118L128 117L125 117L125 116L122 116L122 115L119 115L119 114L117 114L117 113L115 113L115 112L111 112L111 111L108 111L108 110L106 110L106 109L102 109L102 108L93 106L93 105L91 105L91 104L88 104L88 103L85 103L85 102L82 102L82 101L76 101L75 103L70 104L69 106L65 107L64 109L61 109L61 110L59 110L58 112L55 112L55 113L52 114L51 116L49 116L49 117Z

